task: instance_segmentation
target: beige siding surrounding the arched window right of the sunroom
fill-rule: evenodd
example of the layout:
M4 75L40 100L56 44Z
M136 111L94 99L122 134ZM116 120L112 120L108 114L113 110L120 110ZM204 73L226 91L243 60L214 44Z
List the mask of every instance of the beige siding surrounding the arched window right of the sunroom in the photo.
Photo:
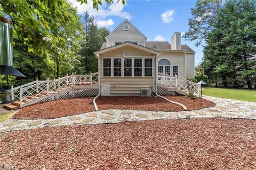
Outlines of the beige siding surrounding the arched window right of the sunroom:
M157 58L157 62L162 58L169 59L172 66L179 66L179 77L184 78L184 53L183 52L162 52ZM157 71L158 67L156 67Z

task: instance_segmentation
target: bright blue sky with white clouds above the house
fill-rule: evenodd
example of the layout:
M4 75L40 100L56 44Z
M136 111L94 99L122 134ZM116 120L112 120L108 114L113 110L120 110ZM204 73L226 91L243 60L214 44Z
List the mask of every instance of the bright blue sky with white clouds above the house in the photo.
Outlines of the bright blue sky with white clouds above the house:
M114 0L117 1L117 0ZM157 0L127 0L126 4L119 3L107 5L102 0L99 10L92 7L92 2L80 4L76 0L69 0L77 7L78 14L88 11L93 15L99 27L106 27L109 31L115 29L124 19L128 19L148 39L147 41L168 41L174 32L184 34L188 31L188 19L192 17L191 8L196 1L157 1ZM181 38L181 44L188 44L195 52L195 66L202 61L203 47L195 46L195 42L185 41Z

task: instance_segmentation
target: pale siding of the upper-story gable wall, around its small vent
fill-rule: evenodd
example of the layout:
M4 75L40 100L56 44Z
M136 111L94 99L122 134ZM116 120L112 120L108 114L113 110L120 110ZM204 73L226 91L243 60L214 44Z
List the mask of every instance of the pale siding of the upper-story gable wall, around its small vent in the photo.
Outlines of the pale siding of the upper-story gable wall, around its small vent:
M124 30L124 26L128 25L129 30ZM118 29L115 30L107 38L107 47L114 46L115 42L137 42L138 45L145 46L145 37L143 37L136 29L134 29L129 22L125 21Z

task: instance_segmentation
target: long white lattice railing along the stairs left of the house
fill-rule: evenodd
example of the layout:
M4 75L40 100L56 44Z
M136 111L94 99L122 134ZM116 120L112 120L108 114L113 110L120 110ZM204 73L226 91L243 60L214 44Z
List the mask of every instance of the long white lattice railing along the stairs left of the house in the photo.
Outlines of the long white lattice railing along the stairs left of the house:
M36 80L18 87L12 86L11 98L12 101L19 100L20 107L22 107L23 100L30 98L27 102L31 102L42 96L42 93L46 93L46 95L49 94L49 92L59 93L63 88L74 85L92 85L97 82L98 72L91 72L90 75L67 75L53 80L49 80L49 78L44 81ZM34 98L32 96L34 96Z

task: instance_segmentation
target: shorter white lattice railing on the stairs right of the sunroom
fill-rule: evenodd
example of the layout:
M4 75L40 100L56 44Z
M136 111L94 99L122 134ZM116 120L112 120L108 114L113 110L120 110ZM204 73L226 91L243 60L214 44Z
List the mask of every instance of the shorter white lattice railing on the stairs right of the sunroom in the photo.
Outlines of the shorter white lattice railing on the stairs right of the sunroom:
M158 72L157 84L162 85L167 89L175 89L183 93L194 94L197 97L201 95L201 87L199 84L181 77L165 75Z

